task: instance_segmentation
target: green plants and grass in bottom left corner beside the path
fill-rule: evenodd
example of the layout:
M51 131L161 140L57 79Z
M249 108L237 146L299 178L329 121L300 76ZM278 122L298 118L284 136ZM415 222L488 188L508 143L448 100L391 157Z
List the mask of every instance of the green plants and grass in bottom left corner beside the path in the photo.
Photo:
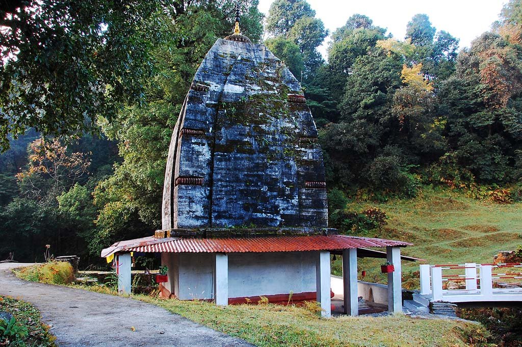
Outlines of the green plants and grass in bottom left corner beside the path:
M0 346L54 347L54 337L49 326L41 322L40 312L33 305L15 300L9 296L0 296L0 312L13 315L15 324L8 325L0 319Z

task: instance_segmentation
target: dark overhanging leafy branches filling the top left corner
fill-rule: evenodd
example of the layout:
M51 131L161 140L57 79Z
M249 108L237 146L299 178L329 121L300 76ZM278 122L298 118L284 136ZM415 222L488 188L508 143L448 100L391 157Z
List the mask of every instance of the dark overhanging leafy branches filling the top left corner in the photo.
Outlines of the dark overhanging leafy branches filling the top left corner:
M99 115L143 101L168 0L1 2L0 149L28 127L92 130Z

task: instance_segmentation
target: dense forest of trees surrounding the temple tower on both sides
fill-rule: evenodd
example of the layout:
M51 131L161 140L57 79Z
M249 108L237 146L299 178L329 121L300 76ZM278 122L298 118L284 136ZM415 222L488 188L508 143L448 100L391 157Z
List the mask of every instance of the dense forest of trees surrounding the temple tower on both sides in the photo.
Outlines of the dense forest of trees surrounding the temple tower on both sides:
M0 259L9 252L20 261L41 259L50 244L55 255L95 262L102 247L160 227L176 116L198 64L230 33L234 18L233 4L168 3L152 1L132 13L101 6L74 26L51 28L60 32L34 28L39 37L63 39L54 51L35 41L23 45L16 35L1 39L11 40L12 52L22 50L17 62L7 57L0 69L11 81L0 86L0 114L11 119L0 121L0 144L10 146L0 155ZM60 16L85 13L75 10L89 6L82 4L67 1L68 13L43 12L49 18L42 20L65 22ZM257 1L241 6L243 34L259 43ZM91 21L101 25L108 14L112 27L84 30L98 28ZM373 223L368 216L377 214L349 215L348 202L413 198L428 186L496 204L522 200L520 14L520 2L509 1L491 30L458 51L458 40L425 14L404 23L405 38L393 38L364 15L329 33L306 1L272 4L265 44L302 81L319 128L333 223L340 229L354 220ZM113 29L124 33L120 41ZM328 35L326 62L317 47ZM75 58L69 44L89 53ZM129 44L136 55L107 50L109 44ZM42 70L22 74L22 58L40 62ZM446 229L474 233L455 228Z

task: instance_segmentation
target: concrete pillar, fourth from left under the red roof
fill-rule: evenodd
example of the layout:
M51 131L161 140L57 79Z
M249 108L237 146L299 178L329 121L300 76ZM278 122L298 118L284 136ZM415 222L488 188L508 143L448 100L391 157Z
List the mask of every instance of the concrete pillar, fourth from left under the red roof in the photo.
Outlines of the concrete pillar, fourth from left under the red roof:
M342 281L344 284L345 314L358 316L357 248L342 251Z

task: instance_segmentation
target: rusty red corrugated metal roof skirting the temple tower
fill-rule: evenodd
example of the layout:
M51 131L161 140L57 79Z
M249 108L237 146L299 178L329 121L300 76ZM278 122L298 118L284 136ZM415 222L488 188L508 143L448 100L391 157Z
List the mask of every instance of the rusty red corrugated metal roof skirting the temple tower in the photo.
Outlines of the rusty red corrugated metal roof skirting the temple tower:
M408 242L346 235L309 235L259 238L177 238L154 237L117 242L101 252L102 257L116 252L165 253L263 253L312 250L340 250L361 247L409 246Z

